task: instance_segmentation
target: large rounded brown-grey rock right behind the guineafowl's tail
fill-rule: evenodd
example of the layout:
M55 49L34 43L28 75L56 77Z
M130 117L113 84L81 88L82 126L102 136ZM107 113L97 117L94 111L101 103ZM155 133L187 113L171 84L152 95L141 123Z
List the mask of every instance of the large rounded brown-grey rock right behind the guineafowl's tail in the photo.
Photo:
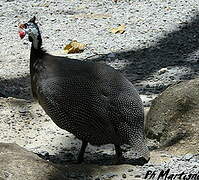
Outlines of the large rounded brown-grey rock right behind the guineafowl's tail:
M199 152L199 79L167 88L151 105L146 118L148 138L181 153Z

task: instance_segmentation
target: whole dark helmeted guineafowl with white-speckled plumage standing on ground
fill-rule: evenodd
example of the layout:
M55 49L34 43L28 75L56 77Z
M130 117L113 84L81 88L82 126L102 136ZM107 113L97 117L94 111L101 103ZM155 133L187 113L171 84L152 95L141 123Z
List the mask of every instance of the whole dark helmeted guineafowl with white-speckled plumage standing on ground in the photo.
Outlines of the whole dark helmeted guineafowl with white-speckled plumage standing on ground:
M78 162L88 143L114 144L118 160L120 146L129 144L147 162L143 105L131 82L108 65L46 53L35 17L20 25L20 37L26 34L33 97L57 126L82 140Z

